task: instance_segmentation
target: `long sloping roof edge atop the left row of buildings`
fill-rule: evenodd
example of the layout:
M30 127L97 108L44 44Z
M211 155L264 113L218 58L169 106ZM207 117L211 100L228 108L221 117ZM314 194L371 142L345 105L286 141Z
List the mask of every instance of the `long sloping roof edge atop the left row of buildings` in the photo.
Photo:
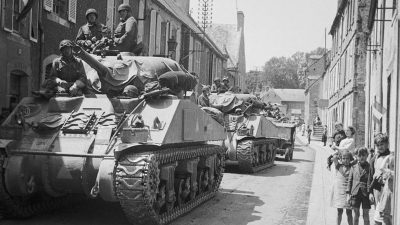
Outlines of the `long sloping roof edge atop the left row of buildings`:
M157 0L156 2L167 9L172 15L174 15L179 21L185 24L195 34L205 34L204 39L207 41L208 45L221 55L224 54L223 49L219 48L218 45L216 45L213 40L211 40L211 38L193 20L193 18L188 13L186 13L177 3L169 0Z

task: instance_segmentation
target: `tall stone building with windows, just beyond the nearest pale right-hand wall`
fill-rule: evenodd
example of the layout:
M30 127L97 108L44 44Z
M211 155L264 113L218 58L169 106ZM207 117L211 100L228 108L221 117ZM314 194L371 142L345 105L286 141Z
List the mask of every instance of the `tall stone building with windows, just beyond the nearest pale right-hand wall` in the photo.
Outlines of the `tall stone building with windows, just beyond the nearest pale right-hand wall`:
M329 34L332 35L328 82L328 121L332 132L336 121L357 130L356 144L364 144L366 38L369 0L339 0Z

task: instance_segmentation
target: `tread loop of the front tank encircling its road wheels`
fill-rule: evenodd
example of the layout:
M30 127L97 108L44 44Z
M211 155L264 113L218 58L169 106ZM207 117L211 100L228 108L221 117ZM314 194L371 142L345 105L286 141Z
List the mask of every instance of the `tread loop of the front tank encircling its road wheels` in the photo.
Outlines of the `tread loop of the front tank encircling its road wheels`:
M154 208L155 195L160 184L159 173L162 165L174 164L182 160L216 155L215 176L212 187L196 194L194 199L161 214ZM223 176L223 149L220 146L201 145L162 149L147 153L126 153L116 163L114 185L116 196L132 224L168 224L179 216L191 211L201 203L214 197ZM201 182L198 182L200 184ZM176 186L174 188L175 192Z

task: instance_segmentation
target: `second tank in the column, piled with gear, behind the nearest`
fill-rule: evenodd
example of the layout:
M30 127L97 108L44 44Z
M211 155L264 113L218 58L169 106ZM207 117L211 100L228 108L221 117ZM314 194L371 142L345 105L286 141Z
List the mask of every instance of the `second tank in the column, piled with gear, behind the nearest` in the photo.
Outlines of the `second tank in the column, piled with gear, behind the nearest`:
M254 95L212 94L210 103L223 113L226 165L237 166L244 173L255 173L274 165L277 151L287 146L287 132L291 128L286 129L266 117L265 105ZM293 140L290 135L289 140Z

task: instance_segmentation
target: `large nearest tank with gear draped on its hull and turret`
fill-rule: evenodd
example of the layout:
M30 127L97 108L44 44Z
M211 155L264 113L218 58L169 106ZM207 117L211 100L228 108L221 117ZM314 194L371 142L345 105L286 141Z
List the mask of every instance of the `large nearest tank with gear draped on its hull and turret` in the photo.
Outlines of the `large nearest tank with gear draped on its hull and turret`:
M78 54L90 94L24 98L0 126L2 216L84 196L119 202L132 224L167 224L212 198L224 155L211 143L225 139L224 128L171 95L193 77L171 59ZM155 80L162 89L138 98L104 94Z

